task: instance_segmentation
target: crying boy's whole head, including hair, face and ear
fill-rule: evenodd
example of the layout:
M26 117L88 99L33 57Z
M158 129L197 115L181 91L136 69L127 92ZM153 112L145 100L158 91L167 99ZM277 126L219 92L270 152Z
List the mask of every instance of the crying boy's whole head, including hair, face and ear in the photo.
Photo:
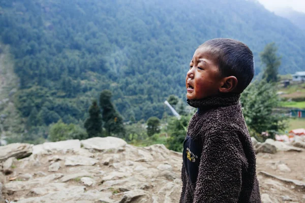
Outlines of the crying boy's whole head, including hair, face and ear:
M254 76L254 58L249 47L232 39L213 39L195 51L187 73L189 99L223 93L241 93Z

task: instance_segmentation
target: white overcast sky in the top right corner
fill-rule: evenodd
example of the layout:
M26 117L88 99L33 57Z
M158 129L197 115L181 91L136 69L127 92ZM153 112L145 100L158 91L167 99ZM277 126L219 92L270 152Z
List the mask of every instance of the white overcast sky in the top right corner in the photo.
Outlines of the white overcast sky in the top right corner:
M305 0L258 0L266 9L275 11L279 8L291 7L305 13Z

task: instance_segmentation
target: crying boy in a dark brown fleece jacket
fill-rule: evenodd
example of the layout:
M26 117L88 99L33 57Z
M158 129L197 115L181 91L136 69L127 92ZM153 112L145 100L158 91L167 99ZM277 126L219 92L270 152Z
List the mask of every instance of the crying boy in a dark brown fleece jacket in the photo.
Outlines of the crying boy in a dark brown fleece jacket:
M186 87L188 104L198 111L184 142L180 203L261 202L239 103L253 76L253 53L241 42L214 39L195 51Z

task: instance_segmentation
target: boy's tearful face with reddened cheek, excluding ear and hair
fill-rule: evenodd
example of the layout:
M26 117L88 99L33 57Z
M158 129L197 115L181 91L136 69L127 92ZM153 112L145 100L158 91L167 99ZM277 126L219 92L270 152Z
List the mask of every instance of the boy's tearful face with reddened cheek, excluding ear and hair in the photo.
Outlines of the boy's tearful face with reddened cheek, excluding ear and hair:
M190 63L186 87L189 99L202 99L219 93L221 74L215 63L215 57L207 47L199 47Z

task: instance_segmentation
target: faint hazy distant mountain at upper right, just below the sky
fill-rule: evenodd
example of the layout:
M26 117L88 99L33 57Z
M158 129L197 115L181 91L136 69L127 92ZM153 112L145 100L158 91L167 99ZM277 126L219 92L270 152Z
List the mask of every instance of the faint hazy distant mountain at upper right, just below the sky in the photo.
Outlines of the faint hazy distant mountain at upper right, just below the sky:
M275 13L289 19L293 24L305 32L305 13L295 11L292 8L278 9Z

